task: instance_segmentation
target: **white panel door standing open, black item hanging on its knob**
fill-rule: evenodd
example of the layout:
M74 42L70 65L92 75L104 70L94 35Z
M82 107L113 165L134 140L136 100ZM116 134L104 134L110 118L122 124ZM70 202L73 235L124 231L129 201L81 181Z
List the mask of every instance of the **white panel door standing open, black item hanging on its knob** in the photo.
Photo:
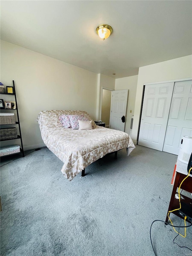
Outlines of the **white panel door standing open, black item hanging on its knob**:
M122 122L122 116L126 118L128 90L118 90L112 92L112 103L110 111L110 128L119 131L125 131L125 122Z

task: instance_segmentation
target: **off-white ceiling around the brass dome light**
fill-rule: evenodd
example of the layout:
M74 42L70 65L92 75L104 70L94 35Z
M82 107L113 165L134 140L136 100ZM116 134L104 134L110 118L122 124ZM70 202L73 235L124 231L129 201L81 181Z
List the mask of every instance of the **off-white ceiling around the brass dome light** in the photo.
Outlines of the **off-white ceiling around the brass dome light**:
M95 32L103 23L113 28L105 41ZM192 54L192 1L1 1L1 39L127 77Z

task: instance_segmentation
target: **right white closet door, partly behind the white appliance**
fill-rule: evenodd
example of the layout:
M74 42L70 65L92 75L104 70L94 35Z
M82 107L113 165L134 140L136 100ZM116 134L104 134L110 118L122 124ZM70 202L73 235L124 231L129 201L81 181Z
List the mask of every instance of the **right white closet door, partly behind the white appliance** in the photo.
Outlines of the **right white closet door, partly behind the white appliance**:
M192 80L176 82L163 151L178 155L183 136L192 136Z

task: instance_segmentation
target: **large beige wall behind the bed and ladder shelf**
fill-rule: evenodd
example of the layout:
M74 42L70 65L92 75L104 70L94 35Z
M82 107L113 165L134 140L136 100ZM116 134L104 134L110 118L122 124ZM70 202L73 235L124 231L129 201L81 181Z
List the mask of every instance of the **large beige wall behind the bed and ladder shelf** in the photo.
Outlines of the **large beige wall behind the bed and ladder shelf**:
M1 41L1 83L15 81L23 146L43 143L41 110L85 110L95 120L98 74ZM12 141L13 144L18 142Z

